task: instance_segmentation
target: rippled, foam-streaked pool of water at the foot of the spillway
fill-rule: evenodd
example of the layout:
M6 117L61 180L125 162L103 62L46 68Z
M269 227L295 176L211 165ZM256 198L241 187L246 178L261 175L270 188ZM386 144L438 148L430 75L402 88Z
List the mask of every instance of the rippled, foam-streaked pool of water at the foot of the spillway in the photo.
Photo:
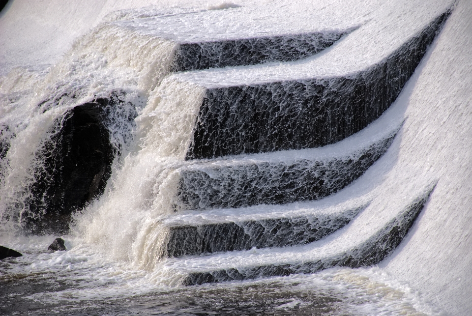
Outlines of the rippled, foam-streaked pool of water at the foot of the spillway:
M436 315L378 268L182 287L64 238L2 240L24 256L0 261L0 315Z

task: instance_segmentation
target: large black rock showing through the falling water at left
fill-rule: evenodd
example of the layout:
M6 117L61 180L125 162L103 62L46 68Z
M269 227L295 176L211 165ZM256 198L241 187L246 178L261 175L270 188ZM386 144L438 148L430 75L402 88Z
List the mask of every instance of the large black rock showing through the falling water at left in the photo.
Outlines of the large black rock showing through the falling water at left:
M34 170L36 182L29 188L29 233L67 233L71 214L103 194L121 150L119 140L128 137L115 135L113 125L130 135L136 117L135 107L123 99L124 93L112 92L58 118L51 138L37 152L42 165Z

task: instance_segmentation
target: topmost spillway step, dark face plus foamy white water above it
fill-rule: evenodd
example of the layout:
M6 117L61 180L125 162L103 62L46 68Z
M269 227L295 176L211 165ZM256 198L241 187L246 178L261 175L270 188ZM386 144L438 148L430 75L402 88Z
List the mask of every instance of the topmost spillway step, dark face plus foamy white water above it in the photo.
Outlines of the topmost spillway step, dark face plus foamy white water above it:
M331 30L329 24L322 28L319 23L274 28L280 21L274 21L273 16L264 22L260 16L251 20L256 13L252 10L148 13L110 26L130 36L146 36L156 46L165 43L170 63L162 69L164 73L293 61L321 52L354 29L339 29L342 26L336 23L331 23Z

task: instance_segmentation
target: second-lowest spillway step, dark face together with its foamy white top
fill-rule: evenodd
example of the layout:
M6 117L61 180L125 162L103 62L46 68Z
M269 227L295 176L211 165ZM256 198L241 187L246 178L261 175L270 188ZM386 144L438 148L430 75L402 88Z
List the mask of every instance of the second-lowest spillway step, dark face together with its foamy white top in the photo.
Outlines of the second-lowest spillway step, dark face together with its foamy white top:
M159 257L303 245L346 226L364 207L249 207L172 216L161 225Z

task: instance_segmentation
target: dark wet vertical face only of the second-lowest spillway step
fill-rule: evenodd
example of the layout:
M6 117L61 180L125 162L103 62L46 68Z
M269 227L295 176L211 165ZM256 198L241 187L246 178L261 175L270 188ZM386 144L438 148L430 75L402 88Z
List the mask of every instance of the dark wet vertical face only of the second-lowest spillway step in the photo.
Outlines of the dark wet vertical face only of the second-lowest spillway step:
M308 244L346 226L361 209L363 207L325 216L169 225L162 232L166 240L162 257Z

